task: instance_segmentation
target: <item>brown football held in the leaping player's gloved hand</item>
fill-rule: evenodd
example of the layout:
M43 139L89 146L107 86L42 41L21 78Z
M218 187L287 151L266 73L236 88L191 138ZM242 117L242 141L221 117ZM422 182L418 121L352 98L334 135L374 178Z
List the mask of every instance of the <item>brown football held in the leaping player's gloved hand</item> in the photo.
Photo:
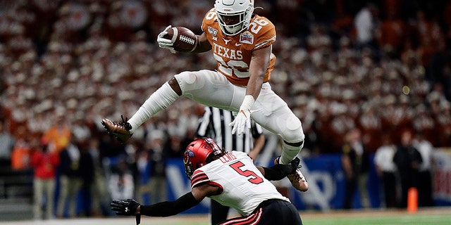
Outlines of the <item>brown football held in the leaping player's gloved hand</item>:
M166 39L173 41L175 51L190 52L197 46L197 36L186 27L171 27L168 34L164 36Z

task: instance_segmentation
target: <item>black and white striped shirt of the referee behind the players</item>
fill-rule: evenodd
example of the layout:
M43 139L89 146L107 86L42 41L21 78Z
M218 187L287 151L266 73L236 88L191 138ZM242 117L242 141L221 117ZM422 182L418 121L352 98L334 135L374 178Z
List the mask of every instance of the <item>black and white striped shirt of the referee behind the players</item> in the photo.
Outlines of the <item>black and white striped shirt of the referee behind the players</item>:
M233 127L228 124L233 122L233 119L232 112L228 110L206 107L204 115L199 119L196 136L214 139L218 146L226 151L237 150L249 153L254 148L254 139L263 135L263 129L251 120L251 129L246 129L245 134L232 134Z

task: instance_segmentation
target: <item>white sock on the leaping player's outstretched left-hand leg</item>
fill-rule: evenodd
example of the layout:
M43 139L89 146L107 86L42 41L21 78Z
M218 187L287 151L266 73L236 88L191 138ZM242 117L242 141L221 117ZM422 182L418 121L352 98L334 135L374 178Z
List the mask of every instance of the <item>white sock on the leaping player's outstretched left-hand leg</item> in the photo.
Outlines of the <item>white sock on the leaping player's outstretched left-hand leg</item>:
M156 113L166 110L177 98L178 94L169 86L168 82L164 83L147 98L135 115L128 120L130 125L132 125L130 133L133 134L141 124L149 120Z

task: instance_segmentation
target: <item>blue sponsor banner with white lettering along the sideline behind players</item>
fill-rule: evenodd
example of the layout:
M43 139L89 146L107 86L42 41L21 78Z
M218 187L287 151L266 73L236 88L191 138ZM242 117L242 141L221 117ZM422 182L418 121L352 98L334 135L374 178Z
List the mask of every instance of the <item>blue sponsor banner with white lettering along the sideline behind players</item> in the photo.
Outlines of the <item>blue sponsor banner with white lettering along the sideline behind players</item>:
M371 207L381 207L381 182L376 174L371 155L368 191ZM435 205L451 205L451 157L446 150L437 149L433 153L433 197ZM309 181L309 191L301 193L289 187L288 198L298 210L341 209L345 198L345 176L340 154L320 155L302 160L302 173ZM175 200L190 191L190 181L185 176L181 159L168 160L167 168L168 200ZM209 212L209 198L185 213ZM359 193L354 195L354 208L361 208Z

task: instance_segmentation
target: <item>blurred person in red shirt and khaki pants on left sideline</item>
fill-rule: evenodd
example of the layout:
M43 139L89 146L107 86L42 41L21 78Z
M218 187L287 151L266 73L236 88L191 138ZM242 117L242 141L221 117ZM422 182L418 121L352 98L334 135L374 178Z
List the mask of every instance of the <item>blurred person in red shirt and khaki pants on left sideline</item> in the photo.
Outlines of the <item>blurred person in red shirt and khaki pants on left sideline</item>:
M60 160L55 148L51 148L47 139L42 139L40 148L32 155L32 166L35 167L35 179L33 183L35 219L42 219L42 203L45 198L45 218L54 217L54 195L56 186L56 167Z

